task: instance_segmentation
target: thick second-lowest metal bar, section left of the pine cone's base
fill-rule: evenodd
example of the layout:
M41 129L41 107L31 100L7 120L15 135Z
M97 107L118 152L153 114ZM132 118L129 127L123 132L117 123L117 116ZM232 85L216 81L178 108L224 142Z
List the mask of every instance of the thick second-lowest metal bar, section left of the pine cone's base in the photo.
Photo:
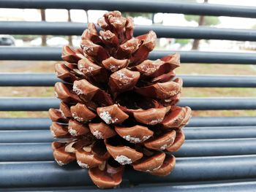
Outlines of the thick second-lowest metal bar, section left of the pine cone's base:
M53 161L2 162L0 170L1 188L93 185L87 169L74 164L60 167Z

